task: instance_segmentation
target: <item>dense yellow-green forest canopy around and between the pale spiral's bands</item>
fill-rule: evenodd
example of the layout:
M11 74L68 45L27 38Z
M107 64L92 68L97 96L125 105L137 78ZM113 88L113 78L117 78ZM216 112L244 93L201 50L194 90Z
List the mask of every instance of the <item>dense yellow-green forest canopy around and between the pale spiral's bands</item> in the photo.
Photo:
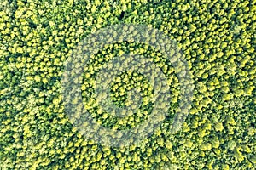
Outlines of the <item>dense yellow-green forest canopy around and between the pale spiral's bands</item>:
M0 0L0 169L254 169L256 167L256 1ZM114 43L84 71L84 105L102 126L126 129L150 115L150 82L123 72L111 84L116 105L142 88L142 111L122 119L90 99L104 59L151 56L172 90L170 116L129 147L84 139L65 114L61 77L73 48L91 32L119 23L153 26L177 41L193 74L192 108L168 133L178 101L175 69L154 48ZM121 78L120 78L121 77ZM149 97L148 97L149 96ZM92 106L90 106L92 105Z

